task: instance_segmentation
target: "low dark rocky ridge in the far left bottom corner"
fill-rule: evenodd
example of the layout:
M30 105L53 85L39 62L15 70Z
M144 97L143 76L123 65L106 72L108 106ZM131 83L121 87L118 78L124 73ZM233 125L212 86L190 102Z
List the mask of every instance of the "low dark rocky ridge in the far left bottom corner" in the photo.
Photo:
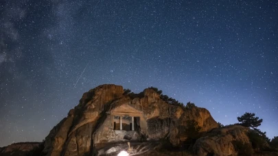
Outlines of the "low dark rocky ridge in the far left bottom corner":
M0 155L25 155L26 152L38 147L40 142L19 142L0 148Z

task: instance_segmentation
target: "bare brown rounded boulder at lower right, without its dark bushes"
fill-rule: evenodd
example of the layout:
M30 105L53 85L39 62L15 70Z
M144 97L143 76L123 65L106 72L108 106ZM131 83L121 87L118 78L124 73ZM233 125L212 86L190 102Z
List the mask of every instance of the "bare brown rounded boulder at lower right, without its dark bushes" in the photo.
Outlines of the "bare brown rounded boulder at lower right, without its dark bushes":
M194 144L194 151L198 156L207 156L213 154L215 156L237 155L234 141L250 144L246 135L248 128L240 125L215 129L208 133L205 137L199 138Z

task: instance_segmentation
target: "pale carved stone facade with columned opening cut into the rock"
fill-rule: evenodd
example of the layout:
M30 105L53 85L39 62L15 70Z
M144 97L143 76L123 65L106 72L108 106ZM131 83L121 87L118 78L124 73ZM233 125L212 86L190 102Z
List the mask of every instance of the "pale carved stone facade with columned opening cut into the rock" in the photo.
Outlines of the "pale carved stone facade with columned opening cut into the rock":
M107 113L107 118L95 133L94 144L140 140L148 133L146 118L140 107L123 104Z

